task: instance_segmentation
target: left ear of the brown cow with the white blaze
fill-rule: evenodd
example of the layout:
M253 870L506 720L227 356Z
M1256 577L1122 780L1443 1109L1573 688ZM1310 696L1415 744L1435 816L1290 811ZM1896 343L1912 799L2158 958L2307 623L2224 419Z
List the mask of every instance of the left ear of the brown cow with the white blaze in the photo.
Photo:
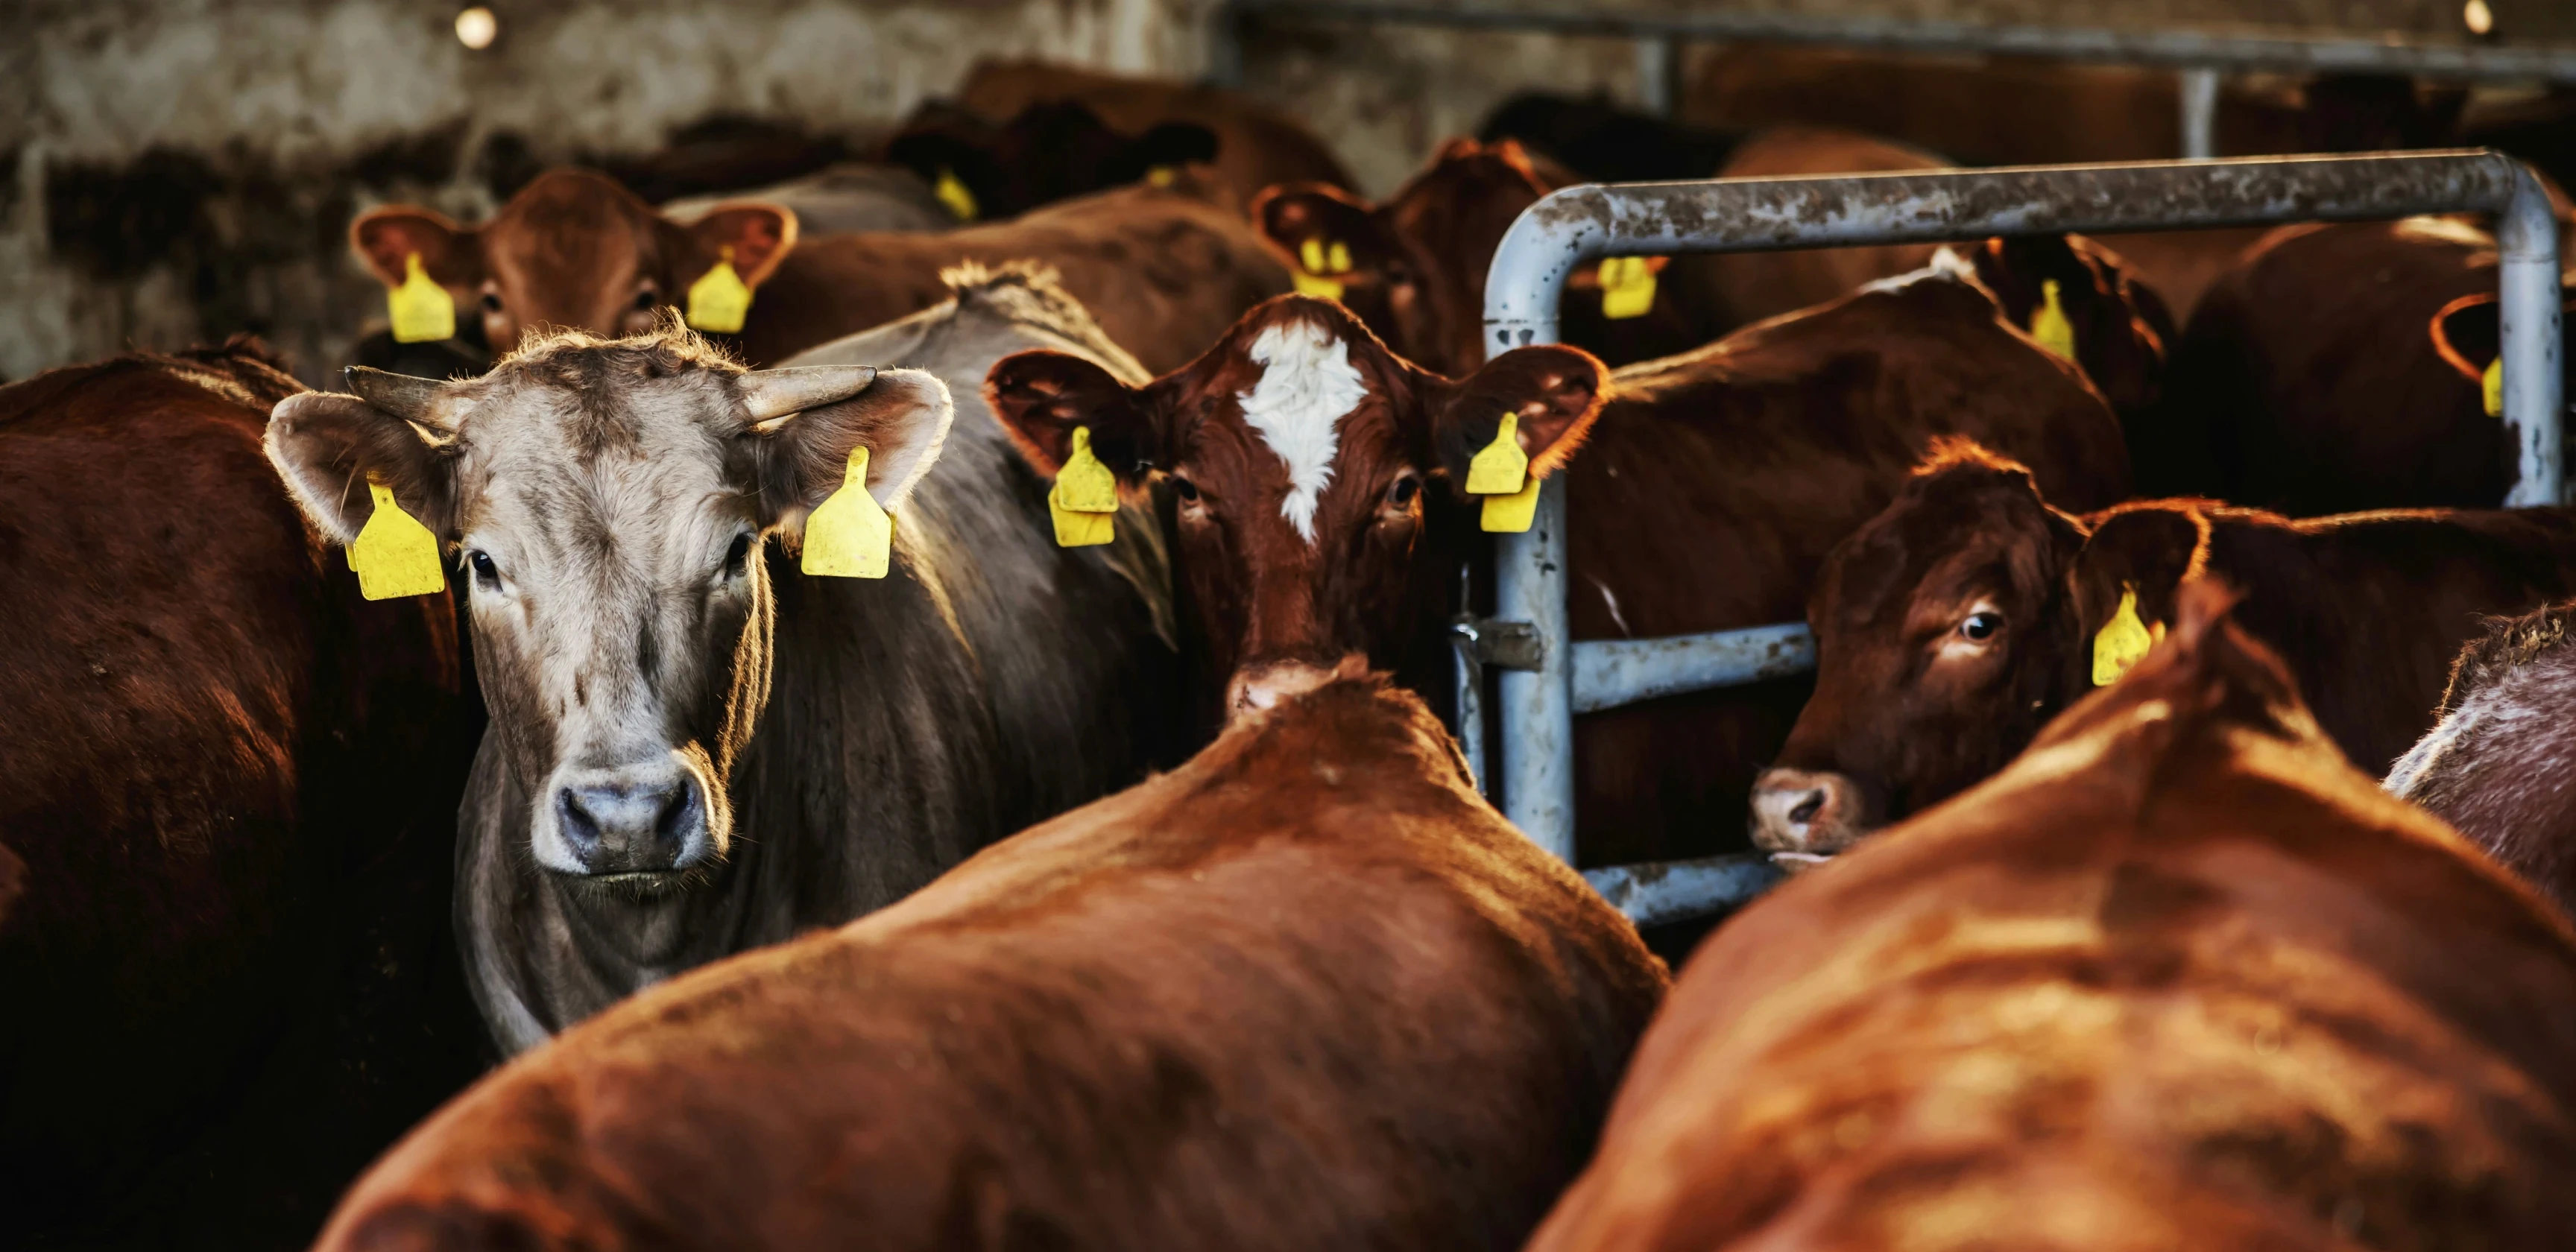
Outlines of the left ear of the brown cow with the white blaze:
M1074 428L1090 428L1092 456L1133 487L1170 466L1170 446L1149 389L1128 386L1072 353L1012 353L984 376L984 404L1010 430L1038 474L1056 477L1074 456Z

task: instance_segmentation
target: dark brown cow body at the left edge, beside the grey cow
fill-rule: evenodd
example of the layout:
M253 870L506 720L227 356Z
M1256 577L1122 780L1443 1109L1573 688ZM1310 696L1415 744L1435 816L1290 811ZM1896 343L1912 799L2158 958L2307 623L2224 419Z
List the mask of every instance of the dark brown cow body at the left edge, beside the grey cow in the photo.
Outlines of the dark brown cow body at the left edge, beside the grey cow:
M0 389L10 1247L301 1239L482 1069L443 595L366 603L260 459L255 340Z

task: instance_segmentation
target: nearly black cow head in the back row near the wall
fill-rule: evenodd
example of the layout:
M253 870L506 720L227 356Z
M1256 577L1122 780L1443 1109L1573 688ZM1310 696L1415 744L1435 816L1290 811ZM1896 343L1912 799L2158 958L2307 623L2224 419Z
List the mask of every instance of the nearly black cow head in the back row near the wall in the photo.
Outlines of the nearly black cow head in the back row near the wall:
M886 144L886 160L927 183L951 175L974 196L976 216L1018 216L1043 204L1118 188L1157 167L1216 160L1216 131L1167 121L1121 134L1077 100L1023 108L1002 126L956 106L927 103Z

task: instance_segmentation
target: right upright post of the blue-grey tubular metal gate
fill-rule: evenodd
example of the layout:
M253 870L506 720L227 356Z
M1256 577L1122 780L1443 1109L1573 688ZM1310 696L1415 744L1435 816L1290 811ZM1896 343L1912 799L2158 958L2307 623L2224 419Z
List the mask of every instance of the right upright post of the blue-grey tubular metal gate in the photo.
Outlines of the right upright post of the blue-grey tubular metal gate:
M2496 317L2504 335L2504 425L2522 474L2506 507L2566 500L2566 374L2561 374L2558 219L2527 167L2514 167L2514 201L2496 222Z

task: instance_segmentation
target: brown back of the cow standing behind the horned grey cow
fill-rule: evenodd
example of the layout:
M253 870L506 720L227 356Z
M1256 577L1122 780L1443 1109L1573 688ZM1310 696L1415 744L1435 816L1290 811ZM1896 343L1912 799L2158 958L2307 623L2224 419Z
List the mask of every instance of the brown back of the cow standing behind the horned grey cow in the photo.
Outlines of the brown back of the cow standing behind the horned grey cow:
M1208 350L1244 309L1288 291L1288 270L1182 178L1051 204L940 234L827 234L778 265L742 325L750 363L775 363L948 299L943 268L1036 260L1059 273L1113 343L1149 371Z

